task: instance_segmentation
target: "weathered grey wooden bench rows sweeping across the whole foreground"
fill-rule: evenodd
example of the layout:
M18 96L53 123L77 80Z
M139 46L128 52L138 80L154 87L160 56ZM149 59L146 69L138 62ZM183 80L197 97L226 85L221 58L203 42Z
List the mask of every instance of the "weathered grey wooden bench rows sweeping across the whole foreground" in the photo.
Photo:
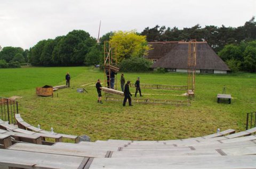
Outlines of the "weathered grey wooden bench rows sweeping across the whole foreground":
M8 125L4 126L11 128ZM13 130L23 131L23 129ZM28 132L26 134L32 132L25 131ZM7 147L6 150L14 151L21 157L14 155L18 160L13 162L10 162L10 158L7 157L1 159L1 154L5 151L0 149L0 166L49 169L72 167L86 169L255 168L256 136L253 135L255 131L255 129L250 129L234 133L234 130L229 129L219 134L210 134L204 137L163 141L109 139L107 141L97 140L79 143L56 142L51 146L18 142ZM18 133L6 130L0 130L1 132L7 133L6 135ZM30 134L30 136L34 136L34 134ZM30 156L33 158L28 160ZM53 156L53 158L50 159L49 156ZM62 158L63 156L67 158ZM26 159L23 159L25 157ZM43 160L37 158L43 158ZM76 160L77 158L80 161L74 163L73 159ZM62 160L65 162L62 163ZM50 163L51 161L53 163ZM33 162L34 166L25 165L27 162L28 164Z

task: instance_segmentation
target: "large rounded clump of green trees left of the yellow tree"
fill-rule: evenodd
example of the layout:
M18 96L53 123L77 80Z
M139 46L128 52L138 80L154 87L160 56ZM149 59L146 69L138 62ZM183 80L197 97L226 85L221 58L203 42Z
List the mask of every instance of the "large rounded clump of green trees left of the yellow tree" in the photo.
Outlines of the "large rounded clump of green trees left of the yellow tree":
M83 30L73 30L66 36L39 41L29 49L29 63L43 66L83 65L86 56L97 48L97 41Z

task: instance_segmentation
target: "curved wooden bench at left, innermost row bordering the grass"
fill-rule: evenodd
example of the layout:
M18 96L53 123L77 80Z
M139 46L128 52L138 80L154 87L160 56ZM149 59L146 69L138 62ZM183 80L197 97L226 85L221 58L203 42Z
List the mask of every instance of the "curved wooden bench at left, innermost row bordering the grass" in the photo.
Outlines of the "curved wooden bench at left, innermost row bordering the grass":
M35 126L32 126L32 125L26 123L25 121L23 121L20 114L15 114L15 119L16 119L18 127L20 129L38 132L38 134L42 133L41 136L45 136L45 137L48 136L48 135L49 136L53 135L53 133L51 133L50 131L45 131L45 130L42 130L42 129L38 129ZM62 141L62 138L68 138L68 139L75 140L76 143L79 142L78 136L73 136L73 135L68 135L68 134L61 134L61 133L54 133L54 135L55 135L54 139L55 139L56 142Z

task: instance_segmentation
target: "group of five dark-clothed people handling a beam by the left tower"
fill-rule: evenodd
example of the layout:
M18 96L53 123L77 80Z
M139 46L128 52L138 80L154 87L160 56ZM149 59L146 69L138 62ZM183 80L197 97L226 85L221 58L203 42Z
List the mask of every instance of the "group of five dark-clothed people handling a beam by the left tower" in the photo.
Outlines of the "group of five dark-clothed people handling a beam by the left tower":
M115 73L115 74L117 74L117 73ZM115 74L113 75L114 79L115 79ZM110 78L111 78L111 73L110 73ZM114 89L115 80L111 81L111 79L110 79L110 87L111 87L111 89ZM109 80L107 80L107 81L109 82ZM113 84L112 84L112 82L113 82ZM132 98L131 98L132 94L130 92L130 83L131 82L127 81L126 84L125 84L125 79L124 79L124 74L123 73L121 74L120 82L121 82L121 89L124 92L123 106L125 106L125 104L127 102L127 99L128 99L128 102L129 102L129 106L132 106ZM109 87L109 84L108 84L108 87ZM136 87L135 97L137 97L138 91L139 91L140 97L142 97L141 89L140 89L140 77L138 77L137 81L135 82L135 87ZM100 79L98 79L98 81L96 83L96 88L97 88L97 92L98 92L98 103L102 104Z

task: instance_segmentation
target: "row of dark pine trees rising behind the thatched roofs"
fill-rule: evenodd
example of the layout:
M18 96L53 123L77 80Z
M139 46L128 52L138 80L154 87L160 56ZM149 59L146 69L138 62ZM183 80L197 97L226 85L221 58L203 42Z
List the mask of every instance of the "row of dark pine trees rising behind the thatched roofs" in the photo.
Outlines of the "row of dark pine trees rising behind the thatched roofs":
M145 28L141 35L147 36L147 41L179 41L196 39L197 41L207 41L207 43L219 52L225 45L239 44L241 41L251 41L256 39L255 17L245 22L244 26L216 27L205 26L202 28L197 24L191 28L178 29L177 27L155 26L154 28Z

